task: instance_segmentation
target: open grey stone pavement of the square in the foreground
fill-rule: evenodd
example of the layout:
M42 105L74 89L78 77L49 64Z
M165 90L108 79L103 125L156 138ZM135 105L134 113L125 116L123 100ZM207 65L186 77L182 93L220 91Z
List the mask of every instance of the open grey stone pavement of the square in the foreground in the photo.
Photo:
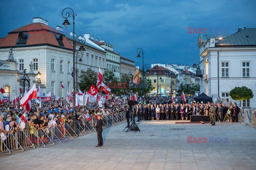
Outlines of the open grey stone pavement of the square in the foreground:
M125 126L103 130L100 148L92 132L45 148L1 154L0 169L256 169L256 129L240 123L142 121L137 133L122 132ZM188 143L188 137L207 140ZM225 143L217 143L220 139Z

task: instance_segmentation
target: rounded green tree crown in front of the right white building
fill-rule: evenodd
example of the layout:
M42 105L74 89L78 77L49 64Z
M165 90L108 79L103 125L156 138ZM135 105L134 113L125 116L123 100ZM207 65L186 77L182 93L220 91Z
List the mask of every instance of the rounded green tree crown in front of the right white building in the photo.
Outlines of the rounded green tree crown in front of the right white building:
M243 86L243 87L235 87L229 92L229 96L231 96L234 100L247 100L253 98L252 90Z

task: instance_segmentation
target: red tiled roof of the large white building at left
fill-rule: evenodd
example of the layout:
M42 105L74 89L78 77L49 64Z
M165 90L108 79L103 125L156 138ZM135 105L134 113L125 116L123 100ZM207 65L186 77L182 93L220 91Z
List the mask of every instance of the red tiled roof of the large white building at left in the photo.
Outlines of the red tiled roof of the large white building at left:
M45 25L43 23L30 23L23 27L9 32L9 34L1 41L0 47L14 47L18 40L20 32L29 34L26 46L30 45L53 45L61 47L55 38L55 35L62 35L59 31ZM65 48L73 49L73 46L69 43L68 39L62 35L62 43Z

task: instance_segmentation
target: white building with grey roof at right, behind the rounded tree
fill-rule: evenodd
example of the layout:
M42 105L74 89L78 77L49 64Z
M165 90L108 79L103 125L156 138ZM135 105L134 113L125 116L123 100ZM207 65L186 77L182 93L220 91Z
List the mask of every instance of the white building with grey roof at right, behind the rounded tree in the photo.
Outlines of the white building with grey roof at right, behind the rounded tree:
M256 29L238 29L233 35L200 35L201 90L213 98L229 101L229 92L245 86L254 97L243 107L256 107ZM235 101L232 100L232 103ZM239 105L239 101L236 101Z

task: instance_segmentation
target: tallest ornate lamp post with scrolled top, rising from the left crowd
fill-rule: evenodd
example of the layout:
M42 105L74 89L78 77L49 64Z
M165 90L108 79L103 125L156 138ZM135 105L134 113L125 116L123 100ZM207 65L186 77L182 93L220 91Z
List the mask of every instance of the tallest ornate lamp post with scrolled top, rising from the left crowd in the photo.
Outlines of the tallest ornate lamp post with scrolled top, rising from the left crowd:
M61 15L62 15L63 18L65 18L65 20L62 24L65 25L66 28L68 28L68 25L70 25L70 23L68 21L68 18L69 17L73 18L73 72L72 73L73 73L73 89L75 90L76 80L74 78L74 75L75 75L75 73L77 73L76 68L75 68L75 52L76 52L76 43L75 42L78 41L79 43L84 44L85 43L85 38L83 36L78 36L78 37L75 38L75 16L77 15L77 13L74 13L74 11L70 7L66 7L66 8L64 8L64 10L62 10ZM80 39L79 37L83 37L84 41L82 39ZM81 47L81 52L82 52L81 54L83 54L83 52L84 52L84 50L82 50L82 47ZM75 113L76 113L75 105L76 105L76 93L74 92L73 93L74 115L73 115L72 119L73 119L74 131L75 131L76 134L78 134L77 133L77 121L76 121L76 115L75 115Z

